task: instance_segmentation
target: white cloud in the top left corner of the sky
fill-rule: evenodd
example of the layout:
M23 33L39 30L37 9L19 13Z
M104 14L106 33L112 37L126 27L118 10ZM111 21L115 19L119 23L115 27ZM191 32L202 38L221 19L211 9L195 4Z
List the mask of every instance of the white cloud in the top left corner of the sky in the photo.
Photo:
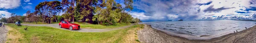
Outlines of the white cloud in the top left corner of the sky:
M14 9L20 6L20 0L0 0L0 8Z

